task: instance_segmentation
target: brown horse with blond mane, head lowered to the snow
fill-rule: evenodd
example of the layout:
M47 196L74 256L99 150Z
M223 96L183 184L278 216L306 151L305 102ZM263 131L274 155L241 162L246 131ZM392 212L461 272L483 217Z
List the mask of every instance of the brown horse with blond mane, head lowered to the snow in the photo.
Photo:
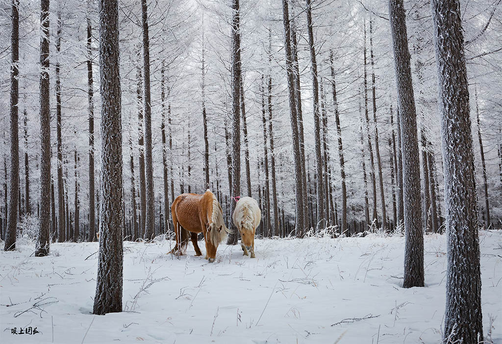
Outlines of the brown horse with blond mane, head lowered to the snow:
M202 195L183 193L176 197L171 206L176 246L169 253L182 255L191 240L196 256L202 256L197 245L197 233L204 234L206 257L209 263L216 258L216 249L226 235L228 228L223 221L221 205L209 189Z

